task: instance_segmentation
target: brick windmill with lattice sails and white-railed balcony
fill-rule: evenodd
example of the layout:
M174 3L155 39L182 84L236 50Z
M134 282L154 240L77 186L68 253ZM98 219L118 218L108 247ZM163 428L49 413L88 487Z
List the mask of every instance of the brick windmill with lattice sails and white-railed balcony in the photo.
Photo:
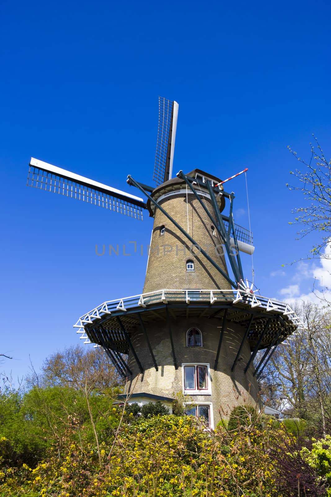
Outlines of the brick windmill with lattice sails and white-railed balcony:
M177 116L178 103L159 97L156 186L127 179L141 197L33 158L27 184L154 219L142 293L105 301L74 327L128 378L130 402L160 401L171 410L182 392L187 413L213 427L220 405L240 404L243 393L257 400L275 347L302 323L287 304L258 295L243 274L240 253L253 253L252 233L235 224L235 195L223 186L236 175L222 181L193 169L173 177Z

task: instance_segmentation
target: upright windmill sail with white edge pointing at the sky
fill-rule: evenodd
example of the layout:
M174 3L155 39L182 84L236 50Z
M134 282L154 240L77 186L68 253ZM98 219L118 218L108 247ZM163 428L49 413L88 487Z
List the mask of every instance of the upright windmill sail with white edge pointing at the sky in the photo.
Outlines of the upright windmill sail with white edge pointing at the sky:
M172 178L178 103L159 96L159 126L153 180L157 185Z

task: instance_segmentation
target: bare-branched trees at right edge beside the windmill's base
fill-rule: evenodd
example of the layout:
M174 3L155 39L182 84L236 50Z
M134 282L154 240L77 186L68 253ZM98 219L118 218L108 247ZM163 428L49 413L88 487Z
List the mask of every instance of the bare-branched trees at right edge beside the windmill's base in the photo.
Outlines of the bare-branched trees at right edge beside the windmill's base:
M325 436L331 419L331 312L304 301L295 311L305 328L278 346L261 386L265 402L271 395L268 404L320 426Z

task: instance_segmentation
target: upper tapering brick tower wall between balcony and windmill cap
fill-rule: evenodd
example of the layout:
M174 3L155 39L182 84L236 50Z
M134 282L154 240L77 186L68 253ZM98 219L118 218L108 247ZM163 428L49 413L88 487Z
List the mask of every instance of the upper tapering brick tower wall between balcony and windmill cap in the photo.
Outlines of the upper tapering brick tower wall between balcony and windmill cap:
M211 258L227 273L224 256L215 252L215 247L219 246L218 250L222 253L224 246L221 245L216 231L215 236L212 235L212 223L198 199L193 194L188 194L187 203L186 193L181 193L164 198L159 203L201 248L208 251ZM205 198L204 203L214 218L210 199ZM187 212L189 216L187 216ZM165 227L164 235L160 235L162 226ZM208 245L209 248L207 248ZM143 293L153 292L161 288L230 289L231 286L227 280L204 255L199 254L196 248L191 248L194 253L192 254L190 248L190 241L159 209L156 209ZM195 263L194 272L186 271L186 261L189 259Z

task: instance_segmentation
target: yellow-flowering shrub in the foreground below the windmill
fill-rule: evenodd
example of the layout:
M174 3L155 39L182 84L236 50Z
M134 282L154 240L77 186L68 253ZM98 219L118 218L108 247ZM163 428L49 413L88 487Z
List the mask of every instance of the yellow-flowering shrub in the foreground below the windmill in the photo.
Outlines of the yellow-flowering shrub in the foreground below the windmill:
M276 436L267 426L248 442L245 431L205 430L191 416L127 420L101 443L102 468L94 446L68 442L61 460L51 450L15 494L7 485L2 495L282 497L267 446Z

